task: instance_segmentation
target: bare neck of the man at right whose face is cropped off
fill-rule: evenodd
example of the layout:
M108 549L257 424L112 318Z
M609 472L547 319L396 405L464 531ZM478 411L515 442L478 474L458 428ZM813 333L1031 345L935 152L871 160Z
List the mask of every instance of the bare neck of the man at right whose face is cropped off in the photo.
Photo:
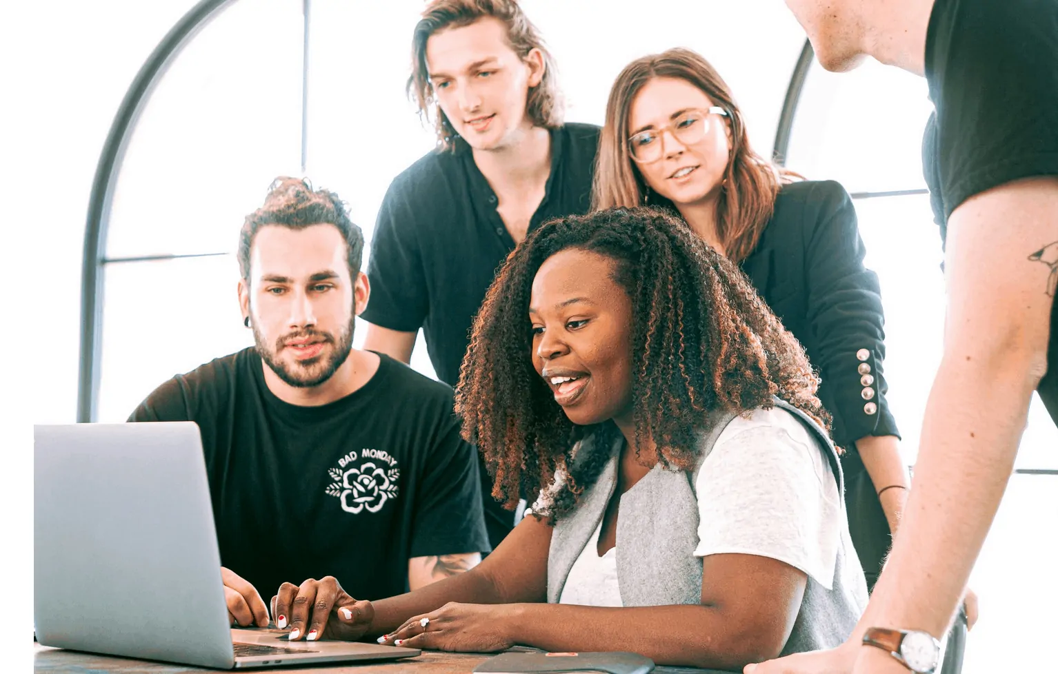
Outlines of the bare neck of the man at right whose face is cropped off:
M934 0L886 0L860 4L864 52L886 65L926 74L926 33Z

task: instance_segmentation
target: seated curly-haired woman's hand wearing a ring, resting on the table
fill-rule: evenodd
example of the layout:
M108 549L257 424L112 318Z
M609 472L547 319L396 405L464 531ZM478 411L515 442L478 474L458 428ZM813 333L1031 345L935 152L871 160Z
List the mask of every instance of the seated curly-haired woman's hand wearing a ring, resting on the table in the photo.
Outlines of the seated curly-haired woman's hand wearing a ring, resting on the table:
M459 604L450 602L431 613L408 618L379 643L409 649L493 653L514 645L505 628L511 605Z

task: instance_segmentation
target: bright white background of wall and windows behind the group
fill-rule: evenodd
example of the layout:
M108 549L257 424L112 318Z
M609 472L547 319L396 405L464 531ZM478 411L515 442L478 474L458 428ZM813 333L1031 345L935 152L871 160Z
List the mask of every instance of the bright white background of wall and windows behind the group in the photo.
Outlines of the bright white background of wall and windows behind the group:
M98 152L136 71L191 4L40 1L5 7L0 20L0 185L7 206L0 474L7 478L4 540L15 541L7 557L16 565L4 580L15 588L15 606L32 606L31 425L75 418L80 261ZM628 60L683 45L717 67L746 113L751 141L763 153L771 150L804 39L781 0L524 5L558 58L569 120L601 123L609 85ZM403 93L421 6L312 3L306 174L346 199L368 237L389 180L433 143ZM242 216L269 182L300 172L302 37L299 0L240 0L188 45L129 144L108 257L234 250ZM842 181L851 192L923 187L928 112L922 79L874 63L850 75L814 65L788 164L809 177ZM926 196L862 200L857 209L868 262L882 282L890 398L905 458L913 463L940 356L940 240ZM249 343L231 255L111 264L106 280L101 420L124 419L174 373ZM414 364L431 372L421 343ZM1056 448L1058 431L1034 402L1018 465L1058 467ZM1056 486L1054 476L1010 483L974 570L983 617L970 636L967 674L1044 661L1047 617L1058 600L1046 575L1058 553ZM31 620L22 613L13 621L16 643L29 642Z

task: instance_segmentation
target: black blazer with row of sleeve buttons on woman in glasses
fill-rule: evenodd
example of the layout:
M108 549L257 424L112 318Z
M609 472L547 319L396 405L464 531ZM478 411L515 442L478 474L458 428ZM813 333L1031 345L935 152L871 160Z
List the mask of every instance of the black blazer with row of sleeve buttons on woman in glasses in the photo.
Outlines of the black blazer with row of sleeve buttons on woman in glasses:
M863 266L864 254L844 188L805 181L783 186L760 243L742 263L818 370L834 442L847 450L843 465L858 463L860 437L899 435L886 400L881 291Z

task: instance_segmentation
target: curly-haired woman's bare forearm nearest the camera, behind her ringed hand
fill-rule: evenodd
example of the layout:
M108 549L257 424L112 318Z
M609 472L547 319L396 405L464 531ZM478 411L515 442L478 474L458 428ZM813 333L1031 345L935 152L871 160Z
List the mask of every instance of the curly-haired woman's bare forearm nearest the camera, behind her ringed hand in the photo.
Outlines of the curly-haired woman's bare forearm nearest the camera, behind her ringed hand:
M736 671L777 657L789 637L741 630L720 610L698 604L512 604L504 616L510 641L545 651L631 651L658 664Z

